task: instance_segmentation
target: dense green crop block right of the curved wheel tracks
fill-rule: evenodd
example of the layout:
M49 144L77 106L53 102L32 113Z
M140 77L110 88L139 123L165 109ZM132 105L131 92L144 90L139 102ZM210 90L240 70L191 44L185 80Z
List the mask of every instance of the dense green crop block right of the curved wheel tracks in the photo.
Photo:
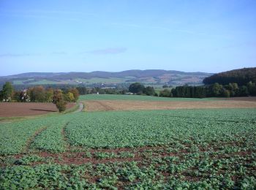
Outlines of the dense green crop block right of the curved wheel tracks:
M80 113L66 132L71 145L88 148L254 143L255 116L256 110L242 109Z

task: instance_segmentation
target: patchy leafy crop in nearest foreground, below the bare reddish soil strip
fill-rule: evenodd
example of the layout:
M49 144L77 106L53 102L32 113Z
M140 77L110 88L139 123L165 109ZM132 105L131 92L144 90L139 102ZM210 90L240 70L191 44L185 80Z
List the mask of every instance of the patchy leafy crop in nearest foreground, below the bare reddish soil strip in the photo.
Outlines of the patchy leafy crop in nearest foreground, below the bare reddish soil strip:
M0 189L255 189L256 154L226 156L148 154L141 161L35 166L26 164L50 158L24 156L0 169Z

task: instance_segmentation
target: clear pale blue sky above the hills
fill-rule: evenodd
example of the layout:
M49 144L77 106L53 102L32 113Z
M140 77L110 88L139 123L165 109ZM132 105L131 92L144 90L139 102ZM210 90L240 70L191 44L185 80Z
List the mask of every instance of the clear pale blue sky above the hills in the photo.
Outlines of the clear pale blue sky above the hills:
M0 75L256 66L255 0L0 0Z

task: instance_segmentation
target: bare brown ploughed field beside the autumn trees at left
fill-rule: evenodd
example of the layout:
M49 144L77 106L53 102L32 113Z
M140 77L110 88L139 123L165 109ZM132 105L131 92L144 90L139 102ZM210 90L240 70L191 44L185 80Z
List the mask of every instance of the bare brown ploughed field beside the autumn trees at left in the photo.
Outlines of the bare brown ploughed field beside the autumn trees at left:
M75 103L68 103L67 109L75 106ZM0 117L18 117L29 115L42 115L45 113L56 113L58 109L53 103L34 102L0 102Z

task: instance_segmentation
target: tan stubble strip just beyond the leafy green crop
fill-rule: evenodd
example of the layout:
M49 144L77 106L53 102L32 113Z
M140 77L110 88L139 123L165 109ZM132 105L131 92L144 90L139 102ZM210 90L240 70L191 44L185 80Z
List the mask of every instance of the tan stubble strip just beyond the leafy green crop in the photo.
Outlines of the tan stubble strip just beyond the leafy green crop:
M211 109L211 108L256 108L256 102L241 100L219 100L202 102L147 102L98 100L83 102L87 111L109 110L174 110L174 109Z

